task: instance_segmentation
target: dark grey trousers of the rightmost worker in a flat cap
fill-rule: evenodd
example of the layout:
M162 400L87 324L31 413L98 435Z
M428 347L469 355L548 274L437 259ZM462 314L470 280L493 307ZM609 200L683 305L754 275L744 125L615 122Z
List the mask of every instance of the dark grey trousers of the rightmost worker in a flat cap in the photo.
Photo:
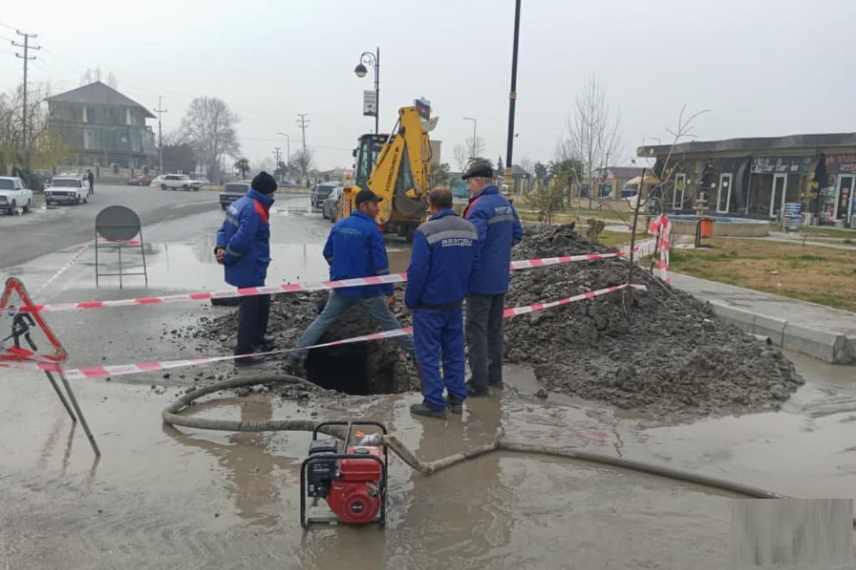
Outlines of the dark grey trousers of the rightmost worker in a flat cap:
M473 388L502 384L502 312L505 293L467 295L467 348Z

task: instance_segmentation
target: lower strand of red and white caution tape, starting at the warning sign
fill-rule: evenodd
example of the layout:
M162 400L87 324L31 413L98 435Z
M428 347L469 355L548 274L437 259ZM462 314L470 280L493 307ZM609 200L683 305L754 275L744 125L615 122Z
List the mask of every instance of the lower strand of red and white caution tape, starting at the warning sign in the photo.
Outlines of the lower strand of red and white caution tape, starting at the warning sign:
M553 301L551 303L535 303L533 305L529 305L528 307L516 307L514 309L505 309L502 316L503 318L517 316L519 314L527 314L533 313L535 311L542 311L544 309L552 309L553 307L559 307L560 305L567 305L568 303L574 303L576 301L583 301L585 299L591 299L593 297L599 297L601 295L606 295L608 293L613 293L615 291L621 291L621 289L627 288L627 284L624 285L614 285L612 287L606 287L604 289L599 289L597 291L586 291L585 293L581 293L580 295L575 295L574 297L566 297L564 299L559 299L558 301ZM629 285L633 287L633 289L639 289L645 291L645 285ZM257 355L263 356L272 356L272 355L282 355L287 354L288 352L295 352L298 350L312 350L318 348L324 348L327 346L337 346L339 344L352 344L352 343L361 343L371 340L380 340L382 338L394 338L394 337L403 337L406 335L413 334L413 326L407 326L405 328L393 329L391 331L383 331L383 332L372 332L371 334L361 335L359 337L351 337L351 338L342 338L341 340L336 340L331 343L324 344L313 344L312 346L302 347L300 349L283 349L283 350L270 350L268 352L256 353ZM250 355L247 355L250 356ZM175 361L155 361L155 362L138 362L136 364L118 364L111 366L98 366L98 367L86 367L86 368L71 368L63 371L62 373L65 375L67 379L93 379L93 378L106 378L108 376L122 376L124 374L135 374L135 373L143 373L143 372L158 372L162 370L169 370L171 368L180 368L180 367L191 367L191 366L199 366L200 364L211 364L213 362L223 362L223 361L234 361L235 358L241 358L241 356L208 356L205 358L192 358L187 360L175 360ZM15 369L23 369L23 370L47 370L60 372L61 369L58 365L53 362L21 362L15 364L7 364L0 362L0 367L5 368L15 368Z

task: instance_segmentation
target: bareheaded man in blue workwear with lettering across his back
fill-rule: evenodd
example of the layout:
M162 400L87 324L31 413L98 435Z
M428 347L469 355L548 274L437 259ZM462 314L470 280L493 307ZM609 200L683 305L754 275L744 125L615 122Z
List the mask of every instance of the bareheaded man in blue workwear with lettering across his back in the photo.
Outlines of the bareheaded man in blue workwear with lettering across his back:
M479 233L452 209L452 192L435 188L428 195L431 220L413 234L404 303L413 311L416 365L422 380L422 403L413 414L446 417L443 385L449 408L461 414L467 398L464 385L464 313L462 304L479 264ZM441 353L443 376L440 376Z

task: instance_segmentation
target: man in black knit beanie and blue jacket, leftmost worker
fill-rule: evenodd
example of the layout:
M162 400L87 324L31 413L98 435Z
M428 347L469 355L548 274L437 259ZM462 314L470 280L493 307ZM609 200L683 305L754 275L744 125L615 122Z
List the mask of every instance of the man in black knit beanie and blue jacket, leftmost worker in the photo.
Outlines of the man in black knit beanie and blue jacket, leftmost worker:
M276 180L259 173L247 194L226 209L226 219L217 232L214 255L222 264L226 283L235 287L264 287L270 265L270 206L276 192ZM270 295L241 297L238 309L238 344L235 366L258 364L264 356L253 355L257 347L270 346L274 338L267 333ZM252 355L252 356L249 356Z

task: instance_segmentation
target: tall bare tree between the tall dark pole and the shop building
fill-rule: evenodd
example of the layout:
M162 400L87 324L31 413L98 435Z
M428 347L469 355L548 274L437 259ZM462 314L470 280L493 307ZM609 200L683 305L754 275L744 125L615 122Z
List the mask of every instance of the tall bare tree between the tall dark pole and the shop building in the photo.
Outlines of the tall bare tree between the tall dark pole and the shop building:
M606 91L591 75L584 91L577 97L574 116L568 118L567 132L560 138L562 160L582 164L581 183L588 185L589 207L592 193L604 178L609 160L621 153L621 113L613 115Z

